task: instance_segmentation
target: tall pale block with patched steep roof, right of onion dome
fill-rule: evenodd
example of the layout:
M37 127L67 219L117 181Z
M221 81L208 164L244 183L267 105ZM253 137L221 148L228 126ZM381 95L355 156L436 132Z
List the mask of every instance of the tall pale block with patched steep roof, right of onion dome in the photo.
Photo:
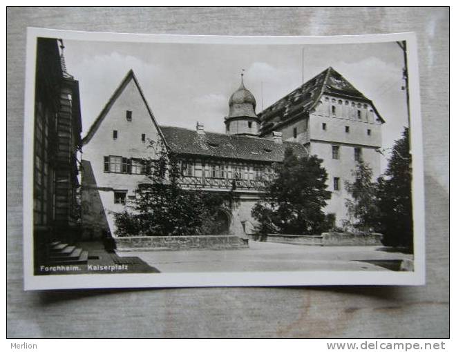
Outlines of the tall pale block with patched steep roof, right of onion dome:
M310 155L323 159L332 192L325 213L341 226L347 218L345 181L363 160L380 175L383 118L370 99L354 88L334 68L327 68L261 113L260 137L279 131L286 141L297 141Z

